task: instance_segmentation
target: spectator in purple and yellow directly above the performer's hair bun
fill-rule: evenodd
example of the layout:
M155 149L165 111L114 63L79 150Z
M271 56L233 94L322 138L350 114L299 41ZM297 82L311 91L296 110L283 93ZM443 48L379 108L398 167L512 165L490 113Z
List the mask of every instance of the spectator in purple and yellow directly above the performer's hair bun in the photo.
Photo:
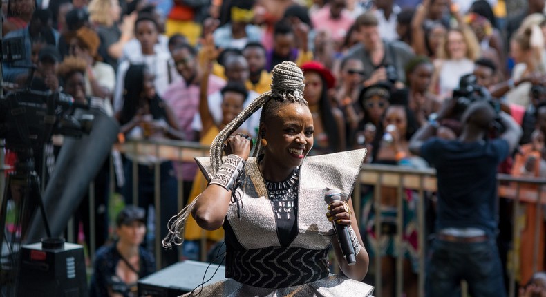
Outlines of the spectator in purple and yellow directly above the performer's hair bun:
M299 66L306 61L311 61L312 52L308 50L307 38L308 27L305 23L301 23L301 26L295 29L286 20L276 23L273 32L273 49L267 52L265 69L271 71L276 64L283 61L293 61Z

